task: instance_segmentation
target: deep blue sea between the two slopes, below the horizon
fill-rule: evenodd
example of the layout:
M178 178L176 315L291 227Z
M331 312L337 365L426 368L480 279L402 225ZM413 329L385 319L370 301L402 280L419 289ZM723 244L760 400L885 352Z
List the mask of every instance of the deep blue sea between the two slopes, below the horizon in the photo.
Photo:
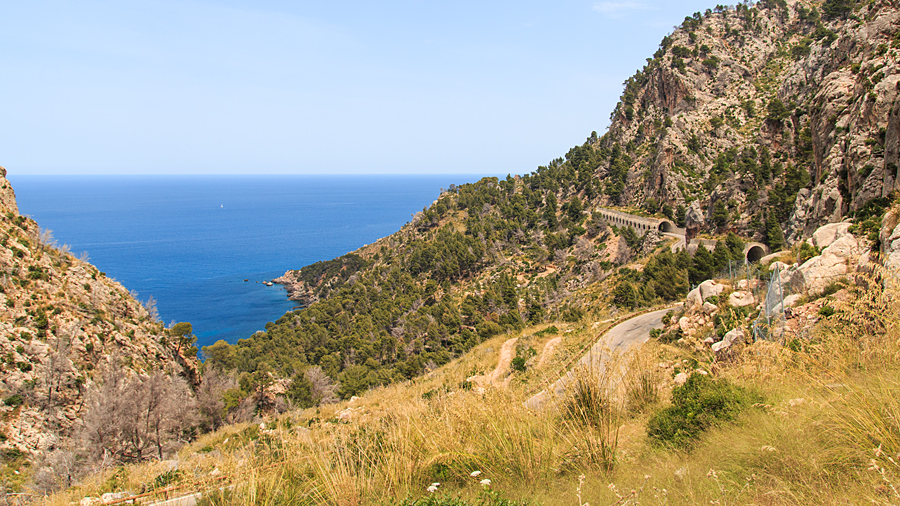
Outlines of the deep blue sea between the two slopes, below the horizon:
M397 231L474 176L16 176L19 212L200 346L234 343L296 306L263 281ZM468 178L468 179L466 179ZM248 281L245 281L248 280Z

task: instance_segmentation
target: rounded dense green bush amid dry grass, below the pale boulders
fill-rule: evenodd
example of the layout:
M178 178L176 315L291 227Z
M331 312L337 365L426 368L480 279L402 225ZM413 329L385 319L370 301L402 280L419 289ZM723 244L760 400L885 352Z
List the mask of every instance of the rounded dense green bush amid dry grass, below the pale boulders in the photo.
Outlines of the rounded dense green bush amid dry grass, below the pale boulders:
M755 400L725 379L695 373L672 390L672 405L653 415L647 434L660 445L690 448L703 431L734 420Z

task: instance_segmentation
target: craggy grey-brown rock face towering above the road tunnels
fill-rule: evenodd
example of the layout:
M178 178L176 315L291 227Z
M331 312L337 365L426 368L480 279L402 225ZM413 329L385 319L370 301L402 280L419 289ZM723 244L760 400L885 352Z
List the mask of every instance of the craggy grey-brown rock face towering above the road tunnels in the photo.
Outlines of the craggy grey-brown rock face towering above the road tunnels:
M589 140L628 156L605 157L595 180L613 184L629 162L621 194L598 203L683 206L690 237L722 231L718 207L763 240L771 212L791 244L896 189L900 6L855 5L829 18L820 1L766 1L685 19L626 81L609 132Z

